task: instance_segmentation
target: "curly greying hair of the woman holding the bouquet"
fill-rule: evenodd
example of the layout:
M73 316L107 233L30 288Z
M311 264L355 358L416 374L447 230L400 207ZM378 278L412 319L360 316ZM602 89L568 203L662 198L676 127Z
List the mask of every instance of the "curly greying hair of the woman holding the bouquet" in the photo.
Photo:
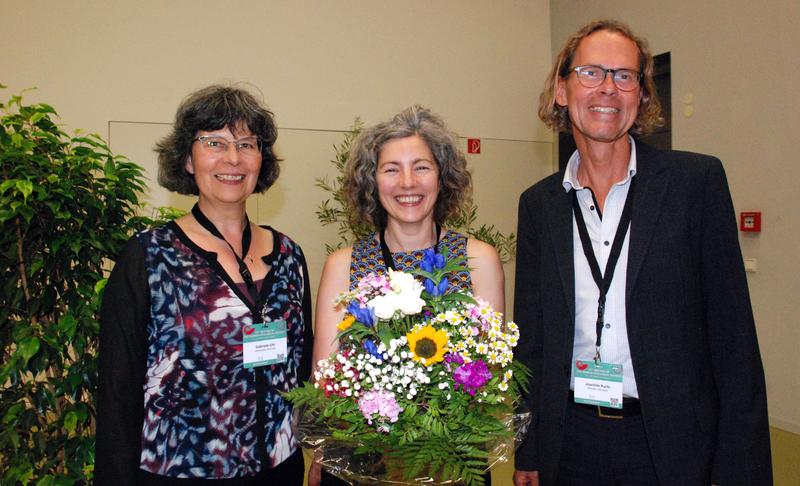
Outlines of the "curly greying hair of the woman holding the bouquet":
M377 228L386 226L386 210L378 197L378 158L388 141L414 135L425 140L439 168L434 220L442 224L472 202L472 175L467 170L464 154L458 149L458 137L446 128L440 117L414 105L391 120L362 130L353 141L343 184L351 209L348 216L351 224L367 222Z

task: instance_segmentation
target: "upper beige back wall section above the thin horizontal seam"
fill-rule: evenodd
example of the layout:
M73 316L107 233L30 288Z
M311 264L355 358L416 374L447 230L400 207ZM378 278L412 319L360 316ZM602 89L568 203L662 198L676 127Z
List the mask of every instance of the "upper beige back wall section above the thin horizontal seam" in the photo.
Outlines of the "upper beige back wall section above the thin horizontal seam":
M463 135L549 140L531 106L550 52L537 1L0 0L0 79L70 124L170 122L212 82L246 81L281 127L344 129L411 104Z

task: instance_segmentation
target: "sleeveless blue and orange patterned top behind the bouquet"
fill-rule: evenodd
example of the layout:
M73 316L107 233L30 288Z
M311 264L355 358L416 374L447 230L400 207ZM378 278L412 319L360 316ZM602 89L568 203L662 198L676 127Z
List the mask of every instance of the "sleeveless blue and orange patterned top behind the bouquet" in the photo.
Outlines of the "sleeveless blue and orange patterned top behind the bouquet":
M427 249L392 253L395 268L397 270L419 268L422 254ZM455 231L447 231L439 240L438 250L439 253L446 254L449 259L466 258L467 237ZM384 275L387 272L377 233L358 240L353 245L353 253L350 258L350 290L355 289L358 281L369 273ZM469 272L458 272L449 277L448 293L456 290L472 292L472 277Z

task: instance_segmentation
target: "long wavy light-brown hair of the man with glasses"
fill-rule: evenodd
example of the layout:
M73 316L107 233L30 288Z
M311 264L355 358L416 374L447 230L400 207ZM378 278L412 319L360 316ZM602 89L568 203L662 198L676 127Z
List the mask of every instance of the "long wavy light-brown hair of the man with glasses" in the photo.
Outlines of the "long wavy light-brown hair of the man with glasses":
M567 107L559 106L556 103L558 80L566 78L570 74L572 60L580 42L600 30L622 34L633 41L639 49L642 95L639 101L639 114L630 132L634 135L647 135L664 123L664 119L661 117L661 102L656 95L656 85L653 81L653 55L645 39L636 36L626 24L613 19L593 20L567 39L564 48L561 49L553 68L550 70L550 74L547 76L547 80L544 82L544 90L539 95L539 118L555 131L569 132L572 129Z

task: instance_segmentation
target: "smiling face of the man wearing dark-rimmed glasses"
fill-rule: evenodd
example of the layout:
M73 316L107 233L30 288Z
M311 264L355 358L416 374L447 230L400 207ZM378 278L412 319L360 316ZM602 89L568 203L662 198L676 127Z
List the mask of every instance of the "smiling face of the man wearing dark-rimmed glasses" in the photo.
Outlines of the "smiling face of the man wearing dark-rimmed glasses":
M639 71L639 49L618 32L599 30L578 44L569 67L585 65ZM576 73L570 72L558 80L556 103L567 107L579 147L594 142L627 143L628 130L639 114L641 93L641 87L620 90L611 75L600 86L586 88L578 82Z

